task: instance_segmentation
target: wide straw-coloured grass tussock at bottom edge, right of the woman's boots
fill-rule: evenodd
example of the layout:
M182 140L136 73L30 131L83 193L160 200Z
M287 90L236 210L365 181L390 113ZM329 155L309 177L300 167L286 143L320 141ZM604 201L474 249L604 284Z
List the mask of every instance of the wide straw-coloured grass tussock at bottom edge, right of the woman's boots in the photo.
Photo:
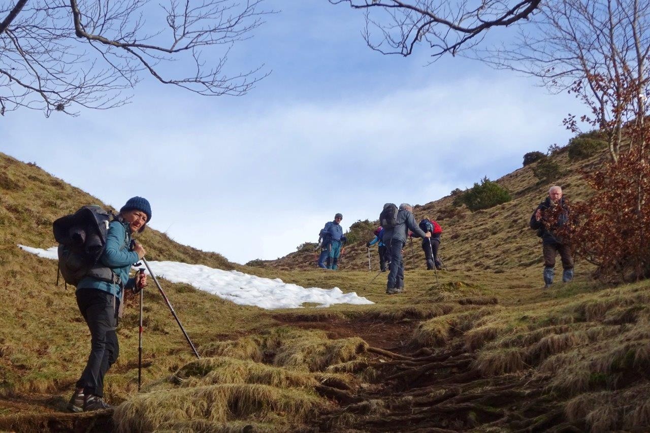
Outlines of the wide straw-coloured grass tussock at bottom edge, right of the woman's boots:
M298 389L258 384L226 384L136 395L115 409L118 432L172 428L183 421L220 425L254 416L261 422L300 423L326 402Z

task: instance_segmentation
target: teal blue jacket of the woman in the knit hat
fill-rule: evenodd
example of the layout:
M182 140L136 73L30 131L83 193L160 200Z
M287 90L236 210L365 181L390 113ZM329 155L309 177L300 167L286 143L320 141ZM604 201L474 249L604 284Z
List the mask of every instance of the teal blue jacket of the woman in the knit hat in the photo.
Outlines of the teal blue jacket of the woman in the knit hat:
M138 253L135 251L129 251L129 245L131 244L131 230L129 230L129 223L112 221L110 222L109 231L106 236L106 248L104 249L104 254L99 257L99 261L106 265L113 272L118 274L122 278L122 282L125 283L125 287L133 287L135 280L133 278L129 279L129 270L131 270L131 265L138 261ZM77 285L77 290L81 289L98 289L108 292L116 296L120 302L122 301L123 290L119 284L109 283L105 281L97 280L87 276L79 282Z

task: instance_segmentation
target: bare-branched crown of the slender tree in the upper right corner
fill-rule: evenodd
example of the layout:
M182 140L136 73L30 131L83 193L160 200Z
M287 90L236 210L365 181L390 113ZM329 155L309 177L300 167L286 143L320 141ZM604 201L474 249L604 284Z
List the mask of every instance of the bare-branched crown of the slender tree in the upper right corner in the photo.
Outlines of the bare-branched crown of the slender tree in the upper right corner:
M478 53L497 68L541 79L555 92L569 91L588 107L580 119L608 135L616 163L623 127L643 129L649 96L649 0L547 0L526 23L517 23L514 44ZM577 117L567 125L577 131ZM629 150L645 148L643 135Z

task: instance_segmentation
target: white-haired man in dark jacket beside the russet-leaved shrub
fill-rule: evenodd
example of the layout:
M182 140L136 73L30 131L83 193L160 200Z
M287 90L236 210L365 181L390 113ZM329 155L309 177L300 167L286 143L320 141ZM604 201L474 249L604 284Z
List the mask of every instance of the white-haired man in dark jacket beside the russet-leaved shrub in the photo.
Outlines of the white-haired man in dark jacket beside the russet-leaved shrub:
M562 211L558 213L558 218L554 222L550 222L548 218L551 213L556 213L556 206L562 207ZM573 279L573 251L571 244L564 241L560 235L555 231L564 226L569 220L569 208L564 203L562 197L562 188L553 186L549 189L549 196L533 212L530 217L530 228L538 230L538 234L542 239L542 252L544 256L544 287L551 287L553 277L555 276L555 257L558 252L562 259L562 281L567 283Z

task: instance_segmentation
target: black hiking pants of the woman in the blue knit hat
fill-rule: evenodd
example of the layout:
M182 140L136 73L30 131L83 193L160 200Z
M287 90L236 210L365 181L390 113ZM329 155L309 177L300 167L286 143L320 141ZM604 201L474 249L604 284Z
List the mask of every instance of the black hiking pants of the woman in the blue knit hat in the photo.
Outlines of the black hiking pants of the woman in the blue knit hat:
M120 354L115 332L120 300L99 289L77 290L77 306L90 330L90 356L77 381L85 395L104 395L104 375Z

